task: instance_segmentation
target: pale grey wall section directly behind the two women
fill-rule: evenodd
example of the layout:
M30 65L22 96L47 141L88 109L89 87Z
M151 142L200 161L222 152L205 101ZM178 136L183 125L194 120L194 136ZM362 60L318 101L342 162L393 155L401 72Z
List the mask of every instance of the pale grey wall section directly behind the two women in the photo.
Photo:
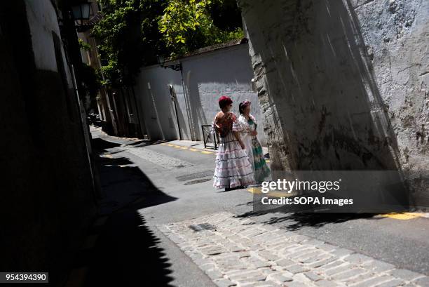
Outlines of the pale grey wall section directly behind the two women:
M250 100L254 103L252 114L261 119L257 93L252 91L253 73L247 51L247 44L240 44L183 59L185 91L191 102L190 118L196 140L203 140L200 126L212 124L219 112L217 100L220 95L231 97L233 112L237 115L238 104ZM258 138L264 145L262 125L258 125L258 132Z

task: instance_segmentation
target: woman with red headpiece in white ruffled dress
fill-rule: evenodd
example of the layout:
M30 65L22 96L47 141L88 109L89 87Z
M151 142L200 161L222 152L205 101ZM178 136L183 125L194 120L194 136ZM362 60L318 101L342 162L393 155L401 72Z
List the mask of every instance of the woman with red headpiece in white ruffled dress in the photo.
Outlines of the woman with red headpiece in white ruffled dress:
M252 164L238 134L237 116L230 112L232 103L231 98L225 95L219 98L219 107L222 110L216 114L212 124L220 135L213 175L213 186L216 189L229 190L255 184Z

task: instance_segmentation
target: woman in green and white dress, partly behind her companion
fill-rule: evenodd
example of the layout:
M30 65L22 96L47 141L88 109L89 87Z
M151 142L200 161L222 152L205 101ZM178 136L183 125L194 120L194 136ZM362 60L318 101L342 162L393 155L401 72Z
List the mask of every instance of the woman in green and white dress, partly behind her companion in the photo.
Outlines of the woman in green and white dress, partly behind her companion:
M257 139L257 121L250 114L250 101L240 102L238 109L240 110L238 117L240 138L243 140L249 161L252 163L254 179L261 184L270 175L270 169L264 159L261 143Z

